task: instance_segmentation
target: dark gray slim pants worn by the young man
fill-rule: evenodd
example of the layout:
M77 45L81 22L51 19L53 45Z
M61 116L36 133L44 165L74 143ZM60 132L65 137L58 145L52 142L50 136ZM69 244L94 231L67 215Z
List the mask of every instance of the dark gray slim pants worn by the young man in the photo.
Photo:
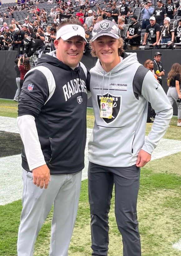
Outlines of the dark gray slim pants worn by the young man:
M89 163L88 194L91 213L93 256L107 256L109 244L108 213L115 184L115 216L122 235L123 256L141 256L136 203L140 168L106 167Z

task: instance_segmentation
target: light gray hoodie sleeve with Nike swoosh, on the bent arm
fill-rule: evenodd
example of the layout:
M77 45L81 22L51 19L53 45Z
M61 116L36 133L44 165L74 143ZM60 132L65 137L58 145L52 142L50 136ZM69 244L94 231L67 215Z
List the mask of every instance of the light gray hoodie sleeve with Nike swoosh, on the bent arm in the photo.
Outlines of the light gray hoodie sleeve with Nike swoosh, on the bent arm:
M149 154L153 152L160 139L164 136L173 116L173 108L167 95L157 79L153 77L154 74L151 71L145 75L141 91L143 97L151 103L151 107L156 113L152 129L142 147Z

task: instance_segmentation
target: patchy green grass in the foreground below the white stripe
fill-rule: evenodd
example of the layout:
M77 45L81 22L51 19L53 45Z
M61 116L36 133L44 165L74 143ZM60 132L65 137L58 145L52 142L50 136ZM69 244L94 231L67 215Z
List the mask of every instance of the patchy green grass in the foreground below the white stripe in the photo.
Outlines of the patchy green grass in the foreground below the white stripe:
M181 154L179 155L179 157ZM170 156L169 156L170 157ZM169 157L164 163L169 163ZM172 248L172 243L181 237L181 176L174 173L158 173L155 170L157 160L150 162L141 170L140 191L138 197L138 220L144 256L181 255ZM154 169L152 169L152 164ZM21 200L0 206L0 255L16 255L17 232L20 221ZM50 226L52 211L41 229L36 245L37 256L49 255ZM69 255L91 255L90 213L88 205L88 182L82 182L77 220L71 239ZM110 222L109 255L122 255L121 235L117 230L114 217L114 193L112 198Z

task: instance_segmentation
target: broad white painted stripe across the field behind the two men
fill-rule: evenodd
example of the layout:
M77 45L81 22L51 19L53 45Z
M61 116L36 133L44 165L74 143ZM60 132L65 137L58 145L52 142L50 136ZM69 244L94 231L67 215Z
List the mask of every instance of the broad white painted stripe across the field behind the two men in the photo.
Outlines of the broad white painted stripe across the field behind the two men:
M19 133L15 118L0 117L0 131ZM92 129L87 128L87 141L85 148L85 168L82 180L87 179L88 171L88 140ZM161 139L154 150L151 160L162 158L181 152L181 141ZM21 155L0 158L0 205L11 203L21 198L22 195L22 167Z

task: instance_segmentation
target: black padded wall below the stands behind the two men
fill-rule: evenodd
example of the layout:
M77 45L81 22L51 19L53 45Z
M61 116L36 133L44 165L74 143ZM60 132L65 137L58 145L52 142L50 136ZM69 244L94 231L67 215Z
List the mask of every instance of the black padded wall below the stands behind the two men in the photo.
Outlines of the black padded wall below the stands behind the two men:
M128 51L127 53L134 52ZM155 52L158 50L138 50L137 53L138 61L144 65L147 59L154 60ZM181 50L159 50L162 54L161 61L165 70L165 76L162 77L162 84L165 93L168 91L167 86L167 74L171 66L178 62L180 63ZM0 51L0 60L1 60L1 79L0 79L0 98L13 99L17 90L16 85L16 73L14 70L14 59L17 56L17 51ZM88 68L95 66L97 58L92 58L90 51L87 51L83 55L82 62ZM91 98L88 100L88 107L92 107ZM177 105L174 104L174 115L177 115Z

